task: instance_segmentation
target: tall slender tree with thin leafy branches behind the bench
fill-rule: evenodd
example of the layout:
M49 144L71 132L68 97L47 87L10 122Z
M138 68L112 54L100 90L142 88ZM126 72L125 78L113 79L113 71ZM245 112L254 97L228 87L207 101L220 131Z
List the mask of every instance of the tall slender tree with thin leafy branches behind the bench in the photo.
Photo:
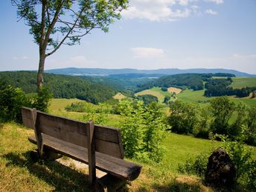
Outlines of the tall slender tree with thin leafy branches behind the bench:
M39 45L37 87L42 89L46 57L61 45L76 45L95 28L108 31L128 0L11 0Z

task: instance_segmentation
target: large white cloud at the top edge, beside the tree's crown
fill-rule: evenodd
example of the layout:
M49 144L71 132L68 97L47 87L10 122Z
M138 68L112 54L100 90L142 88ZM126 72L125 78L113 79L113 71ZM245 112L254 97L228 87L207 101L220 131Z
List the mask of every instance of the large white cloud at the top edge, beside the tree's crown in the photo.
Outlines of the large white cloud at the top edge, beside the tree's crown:
M223 0L202 0L214 4L223 4ZM189 16L201 16L199 11L199 0L132 0L129 7L122 12L125 19L147 19L150 21L167 22ZM205 13L217 15L211 9Z

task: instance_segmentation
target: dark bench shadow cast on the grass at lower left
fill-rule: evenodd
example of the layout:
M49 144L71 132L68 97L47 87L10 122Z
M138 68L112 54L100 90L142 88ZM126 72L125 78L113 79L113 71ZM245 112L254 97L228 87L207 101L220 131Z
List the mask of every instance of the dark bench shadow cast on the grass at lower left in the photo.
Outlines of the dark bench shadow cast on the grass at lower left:
M88 175L66 167L57 161L35 163L30 158L30 152L16 154L8 153L3 156L8 166L25 167L34 176L47 182L55 188L54 191L89 191ZM38 189L40 191L40 189Z

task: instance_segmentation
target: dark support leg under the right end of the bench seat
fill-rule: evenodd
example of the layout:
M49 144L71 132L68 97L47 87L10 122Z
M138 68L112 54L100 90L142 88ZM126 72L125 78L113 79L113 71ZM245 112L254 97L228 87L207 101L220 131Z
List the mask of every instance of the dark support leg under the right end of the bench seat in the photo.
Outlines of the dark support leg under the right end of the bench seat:
M101 177L96 180L96 192L113 192L127 184L126 179L121 179L111 174Z

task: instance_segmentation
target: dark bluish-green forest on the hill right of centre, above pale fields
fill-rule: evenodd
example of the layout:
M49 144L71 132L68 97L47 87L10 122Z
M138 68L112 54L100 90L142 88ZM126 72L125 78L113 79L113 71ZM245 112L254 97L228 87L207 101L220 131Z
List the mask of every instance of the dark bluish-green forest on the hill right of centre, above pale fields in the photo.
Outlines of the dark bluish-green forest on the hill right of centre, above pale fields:
M159 87L170 87L176 86L179 88L188 88L196 90L204 89L204 81L208 81L211 77L234 77L234 74L225 74L225 73L217 73L217 74L173 74L167 75L164 77L160 77L159 79L154 80L150 83L145 83L144 85L138 86L136 92L141 92L144 89L150 89L153 86Z

